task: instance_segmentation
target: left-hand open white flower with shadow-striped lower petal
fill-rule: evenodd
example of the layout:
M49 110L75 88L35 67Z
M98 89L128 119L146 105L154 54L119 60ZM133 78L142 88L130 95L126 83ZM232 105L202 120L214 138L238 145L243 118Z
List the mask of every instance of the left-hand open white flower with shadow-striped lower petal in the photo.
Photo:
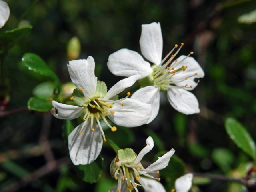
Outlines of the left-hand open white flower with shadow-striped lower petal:
M115 126L108 123L107 117L120 126L135 127L145 124L151 115L151 105L138 100L129 99L128 96L119 99L117 94L136 82L136 76L132 76L117 82L107 92L104 82L97 81L94 75L94 59L70 61L68 71L72 82L77 89L70 98L78 106L61 104L52 101L52 114L59 119L74 119L81 114L84 122L78 125L68 136L70 158L75 165L90 164L100 154L102 137L106 141L100 119L104 121L112 131Z

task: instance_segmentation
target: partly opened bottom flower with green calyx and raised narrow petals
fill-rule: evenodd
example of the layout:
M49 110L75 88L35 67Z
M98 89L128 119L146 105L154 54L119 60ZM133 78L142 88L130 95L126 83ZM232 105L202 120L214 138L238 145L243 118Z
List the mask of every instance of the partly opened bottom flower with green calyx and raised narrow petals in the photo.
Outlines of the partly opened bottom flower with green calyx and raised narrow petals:
M109 192L121 192L126 190L132 191L133 189L138 192L138 185L146 188L147 184L140 176L146 176L160 181L160 178L154 178L154 176L150 174L159 173L159 170L166 168L175 150L171 149L162 157L158 158L156 162L147 168L144 168L140 161L145 154L152 150L153 146L154 141L152 137L148 137L146 140L146 146L140 151L138 156L130 148L118 150L116 158L114 158L110 165L110 174L113 178L118 180L118 185Z

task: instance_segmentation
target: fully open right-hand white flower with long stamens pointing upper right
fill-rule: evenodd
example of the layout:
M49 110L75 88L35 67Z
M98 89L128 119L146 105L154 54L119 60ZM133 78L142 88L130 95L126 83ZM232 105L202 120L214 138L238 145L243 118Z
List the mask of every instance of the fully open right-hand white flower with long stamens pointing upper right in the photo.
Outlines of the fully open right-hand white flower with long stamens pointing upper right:
M140 75L139 82L143 88L137 90L131 98L152 104L152 116L148 123L158 114L160 90L167 91L168 101L179 112L184 114L200 112L198 100L187 90L193 90L197 86L198 82L194 79L204 77L204 71L198 62L190 57L193 52L174 60L183 45L182 43L180 48L175 45L162 59L161 27L160 23L154 22L142 25L140 36L140 50L143 56L153 63L152 66L140 54L128 49L118 50L108 58L107 65L113 74L126 77ZM178 50L172 54L176 48Z

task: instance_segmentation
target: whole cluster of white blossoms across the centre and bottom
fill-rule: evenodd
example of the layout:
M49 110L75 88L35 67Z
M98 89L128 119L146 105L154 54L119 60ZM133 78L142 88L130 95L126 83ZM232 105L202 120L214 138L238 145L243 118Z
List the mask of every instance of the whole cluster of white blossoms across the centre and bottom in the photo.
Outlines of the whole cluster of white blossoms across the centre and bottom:
M77 87L70 100L75 105L52 101L52 114L59 119L74 119L82 115L82 122L68 136L70 158L73 164L90 164L100 154L103 141L107 141L101 123L104 122L114 132L116 126L109 121L125 127L148 124L157 116L160 103L160 91L167 92L171 106L184 114L200 112L198 100L189 92L198 84L196 78L204 77L199 64L190 57L180 56L175 59L184 44L174 48L162 59L162 33L159 23L142 25L140 48L145 61L137 52L121 49L109 56L108 68L118 76L127 78L117 82L107 91L104 82L94 75L94 59L70 61L68 71L72 82ZM178 50L174 52L174 50ZM173 54L172 54L173 53ZM167 60L167 61L166 61ZM141 88L132 94L127 92L124 98L118 94L131 87L136 81ZM159 174L165 168L175 150L172 149L156 162L143 168L140 161L154 146L153 139L146 140L146 147L136 155L132 149L118 150L110 166L111 176L118 180L118 186L109 192L126 192L142 186L146 192L165 192ZM170 173L171 174L171 173ZM140 177L142 176L142 177ZM144 177L143 177L144 176ZM146 178L147 177L147 178ZM192 186L192 174L186 174L175 182L177 192L187 192Z

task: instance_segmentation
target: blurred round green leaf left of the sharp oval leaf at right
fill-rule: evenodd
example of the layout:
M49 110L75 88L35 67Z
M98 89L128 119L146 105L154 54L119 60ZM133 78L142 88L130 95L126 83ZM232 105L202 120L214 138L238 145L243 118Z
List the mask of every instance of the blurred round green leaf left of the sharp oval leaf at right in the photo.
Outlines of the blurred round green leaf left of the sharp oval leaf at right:
M231 165L234 162L234 158L234 155L228 149L217 148L212 152L212 159L224 173L231 170Z

